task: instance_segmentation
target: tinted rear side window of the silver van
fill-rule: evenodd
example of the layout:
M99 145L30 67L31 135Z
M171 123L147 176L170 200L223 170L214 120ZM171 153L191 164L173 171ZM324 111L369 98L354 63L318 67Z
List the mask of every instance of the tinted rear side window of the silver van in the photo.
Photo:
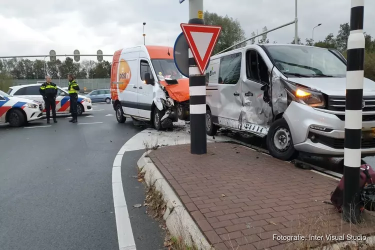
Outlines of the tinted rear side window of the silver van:
M218 83L237 84L241 73L241 58L241 52L221 57Z

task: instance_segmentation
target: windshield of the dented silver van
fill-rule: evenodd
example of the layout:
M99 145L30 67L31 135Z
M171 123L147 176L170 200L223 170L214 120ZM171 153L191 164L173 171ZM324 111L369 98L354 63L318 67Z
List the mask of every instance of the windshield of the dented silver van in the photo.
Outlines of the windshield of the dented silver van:
M346 65L325 48L299 45L264 46L276 66L289 76L345 77Z

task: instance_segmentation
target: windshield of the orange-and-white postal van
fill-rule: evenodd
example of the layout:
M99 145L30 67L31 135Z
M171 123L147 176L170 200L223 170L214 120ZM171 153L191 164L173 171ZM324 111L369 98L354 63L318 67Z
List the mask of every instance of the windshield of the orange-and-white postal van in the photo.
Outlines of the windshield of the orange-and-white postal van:
M151 59L151 62L159 81L165 78L180 79L183 77L173 59Z

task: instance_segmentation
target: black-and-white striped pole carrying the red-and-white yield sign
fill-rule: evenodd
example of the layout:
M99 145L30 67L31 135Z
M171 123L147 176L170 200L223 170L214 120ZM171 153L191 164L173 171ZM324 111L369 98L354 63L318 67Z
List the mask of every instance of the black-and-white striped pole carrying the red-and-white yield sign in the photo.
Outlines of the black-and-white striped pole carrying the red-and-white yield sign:
M203 0L189 0L189 22L191 24L204 24ZM205 131L205 75L195 62L191 49L189 55L189 93L190 93L190 152L192 154L205 154L207 140Z

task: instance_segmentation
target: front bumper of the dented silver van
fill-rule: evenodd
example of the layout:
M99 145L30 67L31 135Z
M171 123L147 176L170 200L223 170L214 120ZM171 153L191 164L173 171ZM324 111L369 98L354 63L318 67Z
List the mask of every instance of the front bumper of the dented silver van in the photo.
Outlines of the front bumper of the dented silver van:
M289 125L294 148L314 155L343 156L345 121L336 114L342 118L344 112L328 113L292 101L283 117ZM371 127L375 127L375 120L362 121L362 127L371 130ZM374 138L362 138L361 145L363 157L375 155Z

